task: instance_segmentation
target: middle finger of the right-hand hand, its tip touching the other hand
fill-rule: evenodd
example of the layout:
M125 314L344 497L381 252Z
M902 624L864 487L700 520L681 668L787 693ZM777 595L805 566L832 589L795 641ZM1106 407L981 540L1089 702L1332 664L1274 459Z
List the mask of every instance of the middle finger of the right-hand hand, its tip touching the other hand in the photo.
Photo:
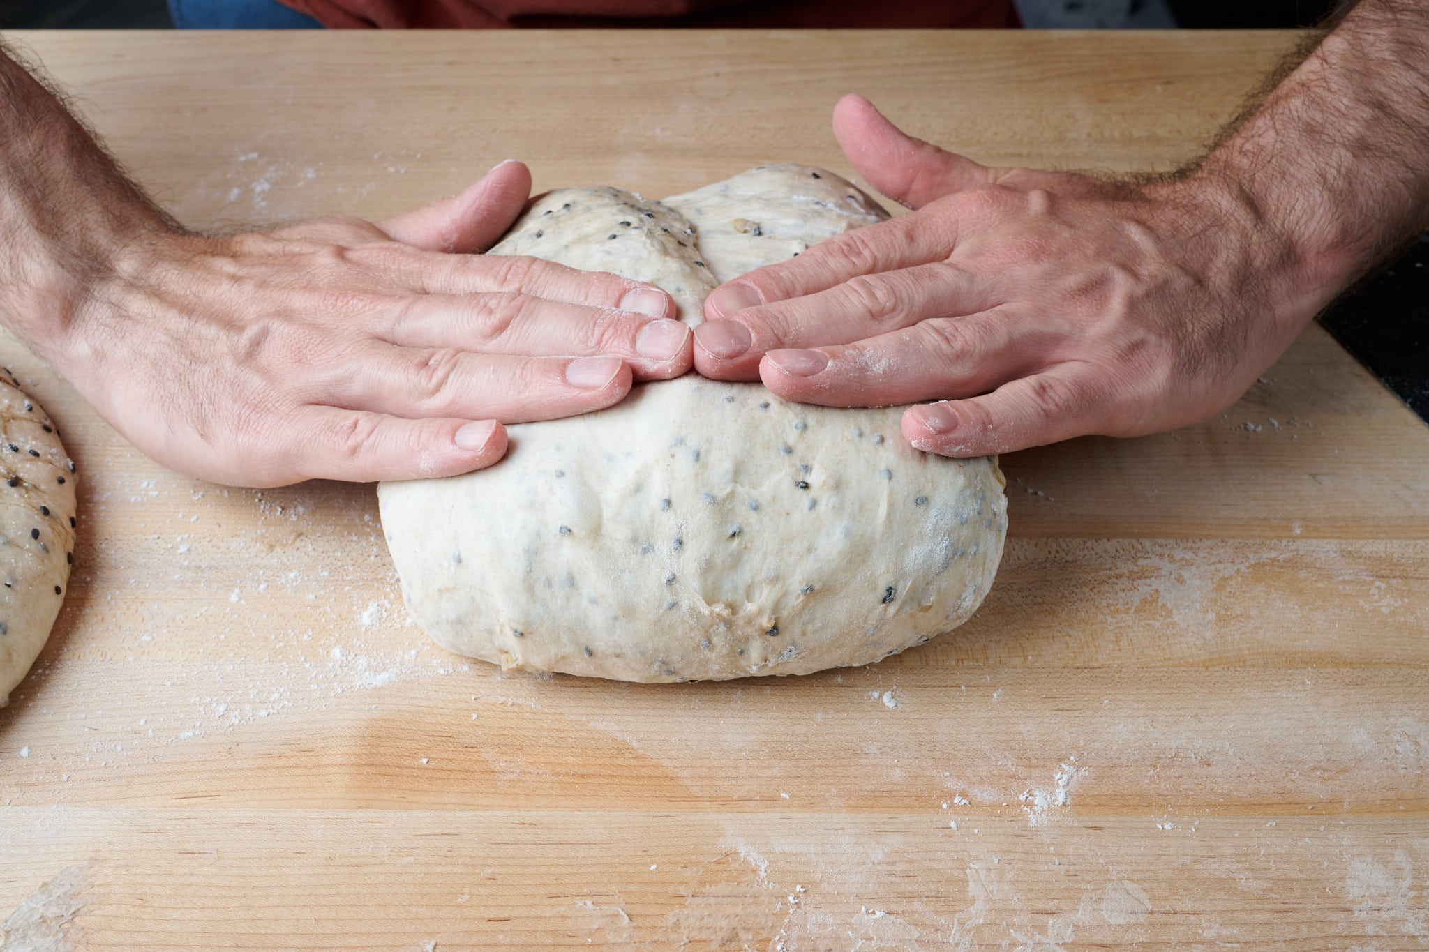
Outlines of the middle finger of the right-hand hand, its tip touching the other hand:
M702 324L694 328L694 365L716 380L755 380L766 351L850 344L930 318L975 314L996 305L996 294L992 277L947 261L860 274L826 291Z

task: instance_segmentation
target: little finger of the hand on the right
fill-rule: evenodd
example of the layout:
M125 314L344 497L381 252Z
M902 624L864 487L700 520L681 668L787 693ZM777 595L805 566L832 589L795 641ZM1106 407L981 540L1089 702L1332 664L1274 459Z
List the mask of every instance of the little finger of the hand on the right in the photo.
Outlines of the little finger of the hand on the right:
M1105 400L1066 365L990 394L909 407L903 435L945 457L982 457L1102 431Z

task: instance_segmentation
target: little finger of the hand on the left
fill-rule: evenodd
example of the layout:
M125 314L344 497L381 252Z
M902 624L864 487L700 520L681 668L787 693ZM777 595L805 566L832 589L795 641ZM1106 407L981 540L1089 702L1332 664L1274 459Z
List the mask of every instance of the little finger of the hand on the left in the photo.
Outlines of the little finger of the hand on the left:
M299 424L292 467L300 480L432 480L482 470L506 454L506 428L494 420L404 420L309 407Z

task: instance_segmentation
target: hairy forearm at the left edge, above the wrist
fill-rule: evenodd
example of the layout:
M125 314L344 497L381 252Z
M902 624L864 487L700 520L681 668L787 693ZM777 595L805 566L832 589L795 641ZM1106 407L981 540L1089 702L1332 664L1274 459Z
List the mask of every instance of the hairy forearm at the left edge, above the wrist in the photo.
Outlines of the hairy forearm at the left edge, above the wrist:
M49 355L126 250L174 231L0 46L0 315L10 328Z

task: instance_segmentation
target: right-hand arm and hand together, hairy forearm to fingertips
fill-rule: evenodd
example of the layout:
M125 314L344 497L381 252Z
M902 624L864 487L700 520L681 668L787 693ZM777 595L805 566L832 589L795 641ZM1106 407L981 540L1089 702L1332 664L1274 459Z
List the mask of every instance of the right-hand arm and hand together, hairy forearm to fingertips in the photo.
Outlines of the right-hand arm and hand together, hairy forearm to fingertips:
M986 168L845 97L845 153L913 213L717 288L696 368L920 404L903 435L959 457L1228 407L1429 227L1429 4L1363 0L1310 40L1206 156L1140 181Z

